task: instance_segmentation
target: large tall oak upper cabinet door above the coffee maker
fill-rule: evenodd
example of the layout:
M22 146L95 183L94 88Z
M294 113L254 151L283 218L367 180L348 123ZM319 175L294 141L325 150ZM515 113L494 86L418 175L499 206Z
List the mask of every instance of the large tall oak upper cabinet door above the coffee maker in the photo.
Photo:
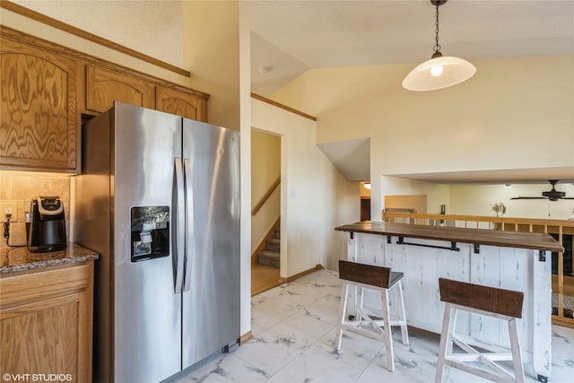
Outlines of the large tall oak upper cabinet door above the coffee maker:
M12 39L0 62L2 168L77 171L79 63Z

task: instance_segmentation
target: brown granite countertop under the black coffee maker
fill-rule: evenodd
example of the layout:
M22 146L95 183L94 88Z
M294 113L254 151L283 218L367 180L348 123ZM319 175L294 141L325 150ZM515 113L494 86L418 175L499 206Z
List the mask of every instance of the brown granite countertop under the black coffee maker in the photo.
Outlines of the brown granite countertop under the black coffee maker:
M49 253L31 253L25 246L0 248L0 274L38 269L53 265L69 265L98 259L98 253L75 243Z

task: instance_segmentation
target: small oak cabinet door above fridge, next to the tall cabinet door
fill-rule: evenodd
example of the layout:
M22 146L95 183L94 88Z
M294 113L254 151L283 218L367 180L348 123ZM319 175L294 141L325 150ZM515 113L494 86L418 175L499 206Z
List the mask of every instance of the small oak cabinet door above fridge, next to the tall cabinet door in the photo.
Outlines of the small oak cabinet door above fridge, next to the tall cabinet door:
M103 112L114 101L154 109L154 84L97 65L86 65L86 109Z

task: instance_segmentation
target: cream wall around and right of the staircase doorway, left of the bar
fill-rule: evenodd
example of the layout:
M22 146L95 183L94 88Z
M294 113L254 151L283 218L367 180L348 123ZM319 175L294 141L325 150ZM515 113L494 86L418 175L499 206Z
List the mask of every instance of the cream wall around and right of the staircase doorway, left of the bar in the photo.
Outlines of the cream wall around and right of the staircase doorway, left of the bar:
M317 264L336 269L341 236L334 229L359 221L359 183L344 179L317 147L314 121L260 100L251 108L254 128L282 136L281 276Z

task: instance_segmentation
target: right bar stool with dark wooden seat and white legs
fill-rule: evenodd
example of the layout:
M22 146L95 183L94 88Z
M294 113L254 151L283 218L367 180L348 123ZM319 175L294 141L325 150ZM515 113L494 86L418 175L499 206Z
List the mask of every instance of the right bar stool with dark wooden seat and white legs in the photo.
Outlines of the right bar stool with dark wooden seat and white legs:
M522 318L523 292L439 278L440 300L446 302L435 382L442 382L445 366L464 370L495 382L524 382L517 318ZM457 311L506 320L510 348L457 333ZM453 353L453 344L460 352ZM512 361L511 373L498 361ZM474 364L472 364L474 363ZM488 367L487 370L483 367Z

